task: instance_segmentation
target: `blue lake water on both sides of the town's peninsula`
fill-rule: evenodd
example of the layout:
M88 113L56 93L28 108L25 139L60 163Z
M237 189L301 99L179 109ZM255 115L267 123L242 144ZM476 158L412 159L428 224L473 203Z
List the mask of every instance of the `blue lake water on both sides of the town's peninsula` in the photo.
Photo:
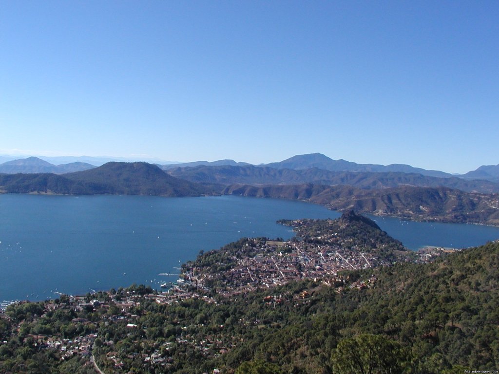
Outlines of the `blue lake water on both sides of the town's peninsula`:
M55 292L143 283L157 288L177 277L200 250L245 236L290 238L280 218L336 218L300 201L237 196L0 195L0 301L55 298ZM499 238L499 228L401 222L375 217L411 249L467 247Z

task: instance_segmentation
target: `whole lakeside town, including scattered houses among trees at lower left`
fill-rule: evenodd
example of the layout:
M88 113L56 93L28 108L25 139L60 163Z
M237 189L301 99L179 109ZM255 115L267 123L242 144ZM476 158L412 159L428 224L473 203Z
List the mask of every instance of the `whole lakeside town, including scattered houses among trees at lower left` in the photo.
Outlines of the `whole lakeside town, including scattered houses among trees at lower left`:
M248 295L255 290L271 290L302 280L333 287L341 293L345 288L363 289L375 285L377 277L374 272L367 278L352 276L359 270L391 266L397 262L431 262L442 253L452 251L435 247L418 252L407 251L400 242L370 222L365 225L365 222L355 221L360 219L357 216L353 218L347 222L344 218L343 221L289 221L287 224L296 232L291 240L243 238L220 250L200 253L195 261L183 265L181 278L165 291L133 285L127 289L83 296L60 295L56 300L42 303L4 303L0 320L15 320L24 314L25 318L18 320L14 330L18 334L24 332L25 339L36 350L50 350L61 361L75 356L89 359L95 346L108 347L105 360L119 370L125 363L123 356L112 349L116 339L98 335L99 325L113 324L121 326L125 336L135 334L142 329L143 303L168 307L196 300L217 305L223 299ZM354 227L355 235L345 234L345 227L359 222L360 226ZM309 296L309 291L303 290L293 299L303 301ZM260 302L275 306L284 300L282 294L270 293ZM27 332L26 321L31 321L31 324L34 321L49 321L54 315L66 316L68 326L63 331L54 334L50 329L31 328ZM150 367L169 367L174 360L170 354L173 346L197 350L204 357L217 357L238 344L237 340L222 339L220 332L195 337L190 333L189 326L182 326L181 321L172 328L174 340L156 345L147 353L136 352L127 358L141 360L143 365ZM220 327L222 329L223 326ZM7 341L2 344L6 345Z

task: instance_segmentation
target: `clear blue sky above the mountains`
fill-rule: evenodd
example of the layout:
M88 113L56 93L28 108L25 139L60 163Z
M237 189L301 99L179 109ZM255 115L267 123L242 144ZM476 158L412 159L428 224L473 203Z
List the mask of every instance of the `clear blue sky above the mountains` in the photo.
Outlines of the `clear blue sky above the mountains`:
M499 1L0 6L0 154L499 163Z

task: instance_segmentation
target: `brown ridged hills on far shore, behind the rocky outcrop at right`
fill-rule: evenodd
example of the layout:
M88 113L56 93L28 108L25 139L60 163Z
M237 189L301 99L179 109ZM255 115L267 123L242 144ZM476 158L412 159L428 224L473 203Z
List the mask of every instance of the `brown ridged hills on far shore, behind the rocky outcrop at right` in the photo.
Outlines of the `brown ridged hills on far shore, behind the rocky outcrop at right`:
M499 225L499 194L446 187L360 189L350 186L286 185L226 187L224 194L299 199L333 210L354 209L413 220Z

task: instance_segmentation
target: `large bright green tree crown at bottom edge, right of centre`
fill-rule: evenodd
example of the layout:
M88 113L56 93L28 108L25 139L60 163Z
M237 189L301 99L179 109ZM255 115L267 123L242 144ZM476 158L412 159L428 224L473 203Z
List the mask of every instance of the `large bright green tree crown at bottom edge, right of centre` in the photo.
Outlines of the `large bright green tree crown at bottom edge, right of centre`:
M334 372L341 374L399 374L408 362L397 342L372 334L343 339L331 361Z

